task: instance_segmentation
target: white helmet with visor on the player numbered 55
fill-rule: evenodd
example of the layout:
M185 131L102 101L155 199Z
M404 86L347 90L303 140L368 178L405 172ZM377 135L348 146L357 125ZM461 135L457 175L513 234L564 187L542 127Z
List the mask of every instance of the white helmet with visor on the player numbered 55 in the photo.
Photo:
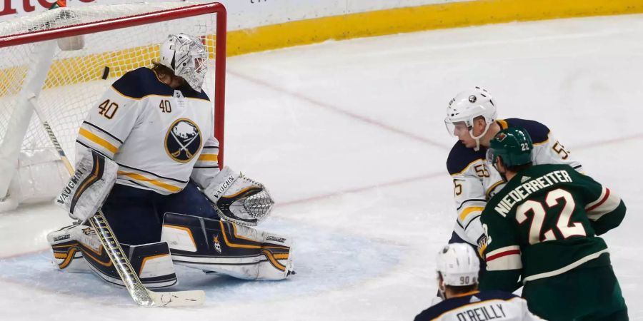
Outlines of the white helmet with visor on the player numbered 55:
M473 123L474 118L484 117L487 127L479 136L474 136ZM498 117L496 106L489 91L484 88L476 87L472 90L458 93L447 106L447 118L444 118L444 124L447 131L452 136L457 136L456 123L464 123L469 130L471 137L476 140L475 150L480 148L480 138L489 130L489 126L496 121Z

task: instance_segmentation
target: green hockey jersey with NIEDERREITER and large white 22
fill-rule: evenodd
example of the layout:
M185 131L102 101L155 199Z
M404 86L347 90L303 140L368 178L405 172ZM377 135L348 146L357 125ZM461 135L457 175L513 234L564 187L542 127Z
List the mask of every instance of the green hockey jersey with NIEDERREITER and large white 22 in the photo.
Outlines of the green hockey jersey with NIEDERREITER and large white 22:
M585 263L609 265L602 233L625 215L618 195L569 165L534 165L514 176L482 213L487 273L482 289L513 292L522 282Z

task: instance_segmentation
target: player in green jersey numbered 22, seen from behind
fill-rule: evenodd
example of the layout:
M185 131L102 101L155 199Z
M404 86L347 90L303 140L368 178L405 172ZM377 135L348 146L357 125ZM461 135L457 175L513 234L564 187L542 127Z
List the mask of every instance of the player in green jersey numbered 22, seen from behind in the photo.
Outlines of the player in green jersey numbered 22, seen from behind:
M487 273L480 288L524 285L529 310L547 320L628 320L597 236L621 223L623 201L569 165L532 165L534 146L522 128L500 131L490 145L487 161L507 185L482 213Z

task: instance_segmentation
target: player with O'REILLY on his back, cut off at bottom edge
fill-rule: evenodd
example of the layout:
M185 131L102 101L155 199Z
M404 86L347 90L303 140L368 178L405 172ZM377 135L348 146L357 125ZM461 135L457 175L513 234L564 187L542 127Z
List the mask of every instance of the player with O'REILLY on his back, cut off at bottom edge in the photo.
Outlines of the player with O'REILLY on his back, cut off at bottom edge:
M517 295L477 290L479 260L470 245L449 244L436 261L438 288L445 300L422 311L415 321L542 320Z

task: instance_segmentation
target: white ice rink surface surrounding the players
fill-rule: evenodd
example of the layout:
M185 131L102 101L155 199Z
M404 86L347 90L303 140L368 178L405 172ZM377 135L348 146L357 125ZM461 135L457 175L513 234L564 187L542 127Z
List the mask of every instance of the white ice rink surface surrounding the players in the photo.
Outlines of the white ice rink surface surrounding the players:
M501 117L547 124L628 215L605 239L643 320L643 15L329 41L229 59L226 164L269 186L263 228L294 235L297 275L248 282L177 267L203 307L144 309L53 270L49 205L0 215L0 320L411 320L454 224L444 111L484 86Z

